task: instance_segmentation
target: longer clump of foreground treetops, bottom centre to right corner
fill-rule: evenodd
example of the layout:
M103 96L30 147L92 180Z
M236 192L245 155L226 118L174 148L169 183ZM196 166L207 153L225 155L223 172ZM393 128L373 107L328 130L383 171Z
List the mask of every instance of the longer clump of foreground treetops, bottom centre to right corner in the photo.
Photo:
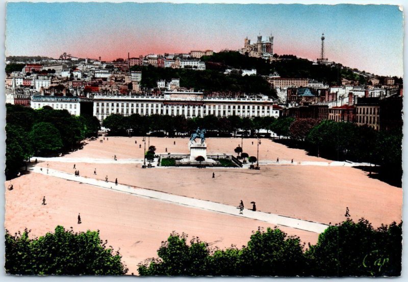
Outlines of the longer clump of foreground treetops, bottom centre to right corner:
M171 233L159 258L139 264L142 276L399 276L402 223L374 229L365 219L329 226L315 245L279 229L259 228L247 245L211 248L187 234Z

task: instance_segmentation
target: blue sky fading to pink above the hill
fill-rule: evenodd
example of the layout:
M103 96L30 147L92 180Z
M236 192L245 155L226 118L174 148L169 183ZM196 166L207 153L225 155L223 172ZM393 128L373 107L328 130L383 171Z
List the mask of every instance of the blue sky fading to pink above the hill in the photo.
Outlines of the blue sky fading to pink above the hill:
M274 37L273 52L403 74L403 13L388 5L8 3L6 55L63 52L113 60L148 53L238 50Z

